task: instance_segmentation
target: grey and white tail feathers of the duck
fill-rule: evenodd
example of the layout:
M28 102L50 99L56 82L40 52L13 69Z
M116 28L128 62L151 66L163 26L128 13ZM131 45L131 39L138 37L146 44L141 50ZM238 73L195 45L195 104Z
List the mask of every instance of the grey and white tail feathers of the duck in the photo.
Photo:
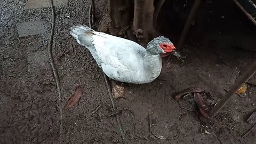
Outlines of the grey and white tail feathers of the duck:
M70 28L70 34L76 38L77 43L83 46L92 46L94 30L85 25L77 25Z

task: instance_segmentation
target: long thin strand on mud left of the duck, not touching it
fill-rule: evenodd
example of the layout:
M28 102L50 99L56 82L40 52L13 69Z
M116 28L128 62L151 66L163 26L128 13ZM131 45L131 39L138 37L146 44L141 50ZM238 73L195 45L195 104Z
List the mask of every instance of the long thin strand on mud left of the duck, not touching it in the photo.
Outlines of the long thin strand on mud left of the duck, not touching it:
M52 54L52 41L53 41L53 35L54 35L54 28L55 28L55 12L54 12L54 5L53 5L53 1L49 0L51 3L51 10L52 10L52 27L51 27L51 37L50 37L50 42L48 44L48 54L49 54L49 58L50 58L50 63L51 63L51 67L53 70L53 74L54 74L54 78L55 78L55 82L57 85L57 91L58 91L58 101L59 103L61 103L61 89L60 89L60 79L59 79L59 75L57 72L57 69L55 68L54 65L54 61L53 61L53 54ZM62 130L63 130L63 122L62 122L62 108L59 107L60 110L60 143L62 143Z

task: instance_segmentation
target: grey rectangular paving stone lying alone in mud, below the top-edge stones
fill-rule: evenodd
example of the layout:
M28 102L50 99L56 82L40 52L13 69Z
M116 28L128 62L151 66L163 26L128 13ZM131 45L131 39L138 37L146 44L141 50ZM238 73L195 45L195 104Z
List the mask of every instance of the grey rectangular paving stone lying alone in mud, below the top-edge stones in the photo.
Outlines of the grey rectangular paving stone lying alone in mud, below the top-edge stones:
M45 33L45 27L42 21L28 21L16 25L19 37L31 36Z

